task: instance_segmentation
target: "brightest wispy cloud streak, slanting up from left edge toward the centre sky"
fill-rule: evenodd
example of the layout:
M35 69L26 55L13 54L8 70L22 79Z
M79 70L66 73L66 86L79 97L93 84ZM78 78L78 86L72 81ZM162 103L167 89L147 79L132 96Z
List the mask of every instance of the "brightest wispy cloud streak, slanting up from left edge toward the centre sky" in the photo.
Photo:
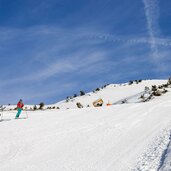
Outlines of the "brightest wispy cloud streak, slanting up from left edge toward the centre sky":
M98 62L106 59L106 53L103 51L97 52L76 52L70 54L70 58L57 59L56 61L50 62L46 67L42 67L36 73L30 72L29 75L23 77L17 77L15 79L6 79L0 84L1 87L16 84L20 82L39 82L46 80L53 76L60 76L61 74L71 73L73 71L79 72L91 72L89 68L94 67ZM46 62L46 61L45 61Z

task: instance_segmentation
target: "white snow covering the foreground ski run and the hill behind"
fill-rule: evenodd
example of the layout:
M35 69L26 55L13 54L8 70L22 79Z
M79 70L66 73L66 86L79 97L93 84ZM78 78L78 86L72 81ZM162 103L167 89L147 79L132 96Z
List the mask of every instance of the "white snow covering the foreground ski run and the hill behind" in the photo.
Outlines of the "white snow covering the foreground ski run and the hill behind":
M77 97L84 105L101 97L112 103L140 93L143 81L131 86L109 85L90 96ZM62 110L4 111L0 122L2 171L169 171L171 170L171 89L146 103L99 108L75 108L60 102ZM91 103L90 103L91 102ZM70 107L69 110L65 110ZM22 119L23 118L23 119Z

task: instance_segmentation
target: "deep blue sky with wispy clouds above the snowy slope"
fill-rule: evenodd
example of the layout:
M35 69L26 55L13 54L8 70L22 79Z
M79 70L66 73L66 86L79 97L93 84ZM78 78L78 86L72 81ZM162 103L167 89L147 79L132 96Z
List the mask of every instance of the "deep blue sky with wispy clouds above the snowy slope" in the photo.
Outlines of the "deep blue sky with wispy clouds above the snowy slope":
M0 0L0 103L168 78L170 11L170 0Z

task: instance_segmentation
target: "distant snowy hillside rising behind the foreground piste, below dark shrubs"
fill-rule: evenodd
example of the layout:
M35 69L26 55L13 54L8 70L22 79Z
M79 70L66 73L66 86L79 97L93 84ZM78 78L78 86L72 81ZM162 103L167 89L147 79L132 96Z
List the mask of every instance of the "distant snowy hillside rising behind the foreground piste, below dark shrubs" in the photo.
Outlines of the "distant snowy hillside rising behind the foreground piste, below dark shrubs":
M124 99L130 99L130 102L136 102L137 98L139 98L144 92L145 87L151 88L152 85L161 85L166 84L166 80L146 80L142 81L139 84L132 84L129 85L128 83L125 84L110 84L106 88L101 89L96 93L88 93L82 97L76 97L69 102L66 103L66 100L56 103L55 106L59 107L60 109L73 109L77 108L76 103L80 102L84 107L89 105L90 107L93 106L93 101L102 98L104 101L104 106L109 102L111 104L119 104L120 101Z

